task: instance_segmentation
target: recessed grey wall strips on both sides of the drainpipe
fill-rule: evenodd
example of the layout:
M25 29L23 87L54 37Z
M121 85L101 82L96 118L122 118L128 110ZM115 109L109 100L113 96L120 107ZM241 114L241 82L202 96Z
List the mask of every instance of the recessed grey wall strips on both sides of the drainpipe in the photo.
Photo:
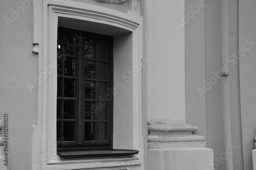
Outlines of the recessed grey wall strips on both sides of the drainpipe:
M222 155L223 128L222 128L222 101L221 80L216 76L220 71L220 1L206 1L205 7L205 60L206 81L212 77L218 78L216 84L206 85L206 117L207 117L207 147L214 149L215 169L224 169ZM238 51L238 1L229 1L229 55ZM240 113L240 86L239 62L232 60L229 63L230 74L230 106L231 106L231 133L232 142L238 148L233 152L234 169L243 169L241 113Z

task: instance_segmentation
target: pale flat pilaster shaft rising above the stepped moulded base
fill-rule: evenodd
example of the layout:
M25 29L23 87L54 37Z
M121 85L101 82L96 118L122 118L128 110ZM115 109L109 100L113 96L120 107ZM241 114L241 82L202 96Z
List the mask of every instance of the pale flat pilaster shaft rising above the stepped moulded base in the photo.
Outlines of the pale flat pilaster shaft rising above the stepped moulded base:
M148 121L185 123L184 1L147 2Z

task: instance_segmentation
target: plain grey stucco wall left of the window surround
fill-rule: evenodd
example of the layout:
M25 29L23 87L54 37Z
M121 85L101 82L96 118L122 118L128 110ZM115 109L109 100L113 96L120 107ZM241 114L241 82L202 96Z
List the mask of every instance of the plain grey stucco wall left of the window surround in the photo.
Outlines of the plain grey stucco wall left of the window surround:
M10 169L27 170L31 125L37 120L37 88L27 87L34 84L38 61L32 54L32 7L22 8L18 0L0 1L0 7L0 115L9 113ZM13 18L9 27L5 16Z

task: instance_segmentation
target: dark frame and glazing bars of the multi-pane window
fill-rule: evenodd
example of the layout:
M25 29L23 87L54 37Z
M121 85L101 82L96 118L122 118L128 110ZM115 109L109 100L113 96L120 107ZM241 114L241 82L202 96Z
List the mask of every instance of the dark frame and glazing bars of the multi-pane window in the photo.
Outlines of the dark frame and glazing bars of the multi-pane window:
M96 120L84 120L84 104L82 105L82 103L84 103L85 101L94 101L95 103L98 100L84 100L83 95L84 95L84 85L82 85L82 82L84 82L85 80L88 80L84 77L84 39L85 37L91 38L91 39L95 39L97 42L98 41L105 41L108 44L108 58L109 58L109 64L108 66L109 68L109 74L108 74L108 83L109 83L109 89L113 89L113 76L114 76L114 70L113 70L113 37L111 36L106 36L106 35L100 35L100 34L95 34L95 33L89 33L89 32L84 32L84 31L80 31L80 30L73 30L73 29L68 29L68 28L62 28L62 27L58 27L58 34L65 34L67 36L74 36L77 35L76 37L79 37L79 51L76 51L77 53L77 61L76 61L76 135L75 135L75 141L57 141L57 152L61 153L61 152L65 152L65 151L87 151L87 150L113 150L113 96L112 96L112 100L109 100L109 105L108 105L108 111L109 111L109 117L108 117L108 140L106 141L83 141L83 135L84 132L82 130L82 127L84 127L84 122L95 122L94 124L94 128L96 129ZM62 36L63 38L63 36ZM81 39L83 39L81 41ZM63 45L63 39L62 39L62 45ZM96 55L96 49L95 49L95 55ZM59 56L59 54L57 55ZM60 55L61 56L61 55ZM74 57L74 56L70 56L70 55L62 55L62 56L67 56L67 57ZM81 56L81 57L79 57ZM62 58L61 58L62 59ZM79 60L79 62L78 62ZM97 61L101 61L96 59L89 59L89 60L94 60L96 63ZM62 62L63 63L63 62ZM77 64L78 63L78 64ZM80 69L82 68L82 69ZM96 68L96 66L95 66ZM62 68L63 71L64 68ZM95 69L96 70L96 69ZM95 72L96 75L96 72ZM69 78L67 76L63 76L63 72L62 72L62 76L58 75L58 78L61 78L62 80L64 80L64 78ZM91 80L91 79L90 79ZM101 80L94 80L95 82L97 81L101 81ZM63 87L63 82L61 83L62 87ZM95 90L96 91L96 85L95 85ZM96 93L94 93L96 95ZM113 92L112 92L113 94ZM78 99L77 99L78 98ZM61 100L62 105L63 105L63 100L65 99L69 99L70 98L63 98L63 89L62 89L62 96L61 97L57 97L57 100ZM72 99L73 100L73 99ZM106 102L106 101L105 101ZM78 106L79 105L79 106ZM63 106L61 107L61 109L63 109ZM62 112L63 114L63 112ZM62 120L60 120L60 118L57 118L57 122L61 122L62 125L62 129L63 129L63 115L62 115ZM66 120L65 121L72 121L72 120ZM105 121L98 121L98 122L105 122ZM63 130L61 130L61 133L63 132ZM79 135L80 134L80 135ZM61 137L63 136L63 134L61 134ZM94 135L97 136L97 135ZM61 152L60 152L61 151Z

